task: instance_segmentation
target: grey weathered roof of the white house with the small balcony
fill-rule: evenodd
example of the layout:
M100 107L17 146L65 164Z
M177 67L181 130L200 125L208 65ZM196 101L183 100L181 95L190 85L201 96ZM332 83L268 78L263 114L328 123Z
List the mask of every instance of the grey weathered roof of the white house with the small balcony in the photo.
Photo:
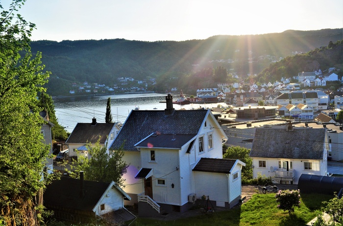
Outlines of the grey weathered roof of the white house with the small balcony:
M324 128L256 128L250 157L322 159Z

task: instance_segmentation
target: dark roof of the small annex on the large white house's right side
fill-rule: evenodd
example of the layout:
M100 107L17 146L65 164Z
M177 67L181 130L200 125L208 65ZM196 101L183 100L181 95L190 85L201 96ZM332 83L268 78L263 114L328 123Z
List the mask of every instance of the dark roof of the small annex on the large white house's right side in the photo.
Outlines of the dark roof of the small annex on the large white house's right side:
M194 171L229 173L236 159L201 158Z

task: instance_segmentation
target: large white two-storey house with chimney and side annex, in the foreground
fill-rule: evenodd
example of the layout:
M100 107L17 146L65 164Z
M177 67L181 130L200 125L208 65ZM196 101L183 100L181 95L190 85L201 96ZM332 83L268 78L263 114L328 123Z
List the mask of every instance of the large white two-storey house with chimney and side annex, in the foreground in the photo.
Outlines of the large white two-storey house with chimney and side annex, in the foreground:
M222 159L227 137L214 115L175 111L170 94L166 103L164 111L131 111L111 146L123 144L123 160L130 164L123 175L130 204L138 201L139 216L184 212L203 195L217 206L237 204L245 163Z

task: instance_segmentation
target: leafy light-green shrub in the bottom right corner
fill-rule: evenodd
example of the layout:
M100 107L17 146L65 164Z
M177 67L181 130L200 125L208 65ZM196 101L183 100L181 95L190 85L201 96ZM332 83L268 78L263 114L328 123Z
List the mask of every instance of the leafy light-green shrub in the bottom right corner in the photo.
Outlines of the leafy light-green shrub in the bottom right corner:
M343 225L343 199L339 198L337 194L335 197L330 199L329 201L323 201L322 204L325 206L323 207L323 211L329 214L333 219L333 225L339 223L337 225Z

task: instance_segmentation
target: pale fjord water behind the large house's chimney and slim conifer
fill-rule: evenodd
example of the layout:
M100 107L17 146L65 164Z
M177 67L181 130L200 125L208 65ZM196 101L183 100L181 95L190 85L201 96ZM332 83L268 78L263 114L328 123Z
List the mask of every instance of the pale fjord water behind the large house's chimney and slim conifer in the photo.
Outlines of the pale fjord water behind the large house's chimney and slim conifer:
M135 108L140 110L164 110L167 94L144 93L144 94L118 94L118 95L90 95L72 97L54 97L55 113L60 125L64 126L68 132L73 132L78 122L91 123L92 118L97 118L97 122L105 122L106 104L108 97L111 97L111 113L113 121L125 122L129 113ZM173 99L177 99L177 95ZM224 103L215 104L188 104L173 105L175 110L213 108Z

